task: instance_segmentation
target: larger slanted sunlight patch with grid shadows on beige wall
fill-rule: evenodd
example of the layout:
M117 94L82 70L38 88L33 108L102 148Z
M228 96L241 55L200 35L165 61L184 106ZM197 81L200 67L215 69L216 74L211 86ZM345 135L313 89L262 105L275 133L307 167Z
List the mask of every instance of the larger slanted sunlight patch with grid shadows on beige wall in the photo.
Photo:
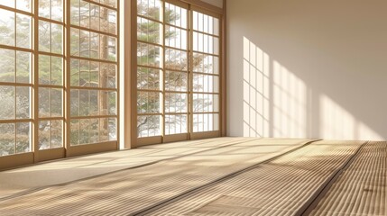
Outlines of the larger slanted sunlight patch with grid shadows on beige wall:
M244 37L244 137L304 138L306 123L305 83Z

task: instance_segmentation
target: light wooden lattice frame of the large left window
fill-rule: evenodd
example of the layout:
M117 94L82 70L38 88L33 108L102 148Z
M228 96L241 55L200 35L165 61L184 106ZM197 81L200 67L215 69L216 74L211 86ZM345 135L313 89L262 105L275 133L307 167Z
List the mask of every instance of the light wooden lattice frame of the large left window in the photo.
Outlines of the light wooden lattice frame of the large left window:
M15 51L24 51L29 52L32 55L32 66L31 66L31 83L0 83L0 85L10 85L10 86L28 86L31 87L31 116L28 119L23 120L1 120L0 123L17 123L17 122L30 122L32 124L31 130L31 151L26 153L14 154L0 157L0 170L13 168L15 166L27 166L32 165L34 163L38 163L41 161L58 159L64 157L74 157L78 155L85 155L97 152L104 152L110 150L117 150L120 143L120 0L116 0L116 6L112 7L106 4L100 4L91 0L84 0L90 4L97 4L99 6L104 6L110 10L116 11L116 33L108 33L104 31L100 31L104 35L108 35L116 38L116 47L115 47L115 62L102 60L102 59L92 59L92 58L82 58L85 60L109 63L116 65L116 84L115 88L97 88L98 91L115 91L116 92L116 100L115 100L115 115L98 115L98 116L88 116L88 117L80 117L83 119L92 119L93 117L104 118L104 117L113 117L116 119L115 125L115 133L116 140L114 141L106 141L99 142L96 144L87 144L80 146L71 146L69 143L69 131L70 131L70 121L73 117L70 117L70 90L74 88L70 86L70 58L74 58L70 56L70 29L78 28L84 29L87 31L95 31L89 30L88 28L78 27L72 25L70 23L70 0L62 0L62 21L56 21L53 19L48 19L39 16L39 0L31 1L31 11L25 12L23 10L19 10L16 8L8 7L5 5L0 5L1 9L5 9L7 11L11 11L18 14L30 15L32 18L31 29L32 29L32 38L31 38L31 48L18 48L15 46L8 46L0 44L0 48L10 49ZM39 50L39 22L48 22L54 24L60 24L62 26L62 52L61 54L51 53L47 51ZM16 25L16 22L15 22ZM16 40L16 39L14 39ZM62 58L62 85L46 85L39 84L39 57L40 55L45 55L49 57L59 57ZM15 60L16 61L16 60ZM51 69L51 68L50 68ZM39 88L49 88L49 89L61 89L62 90L62 116L61 117L41 117L39 116ZM85 89L94 89L94 87L85 87ZM62 121L62 147L61 148L48 148L48 149L39 149L39 121ZM15 131L16 133L16 131Z

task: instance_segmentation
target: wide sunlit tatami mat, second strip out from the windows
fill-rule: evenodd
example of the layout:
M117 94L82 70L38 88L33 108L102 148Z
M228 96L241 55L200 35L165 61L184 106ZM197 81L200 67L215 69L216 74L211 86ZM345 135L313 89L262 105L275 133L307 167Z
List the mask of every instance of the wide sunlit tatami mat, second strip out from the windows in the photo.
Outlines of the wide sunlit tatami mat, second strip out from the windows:
M190 151L186 156L170 157L173 155L170 153L167 160L149 166L125 169L71 184L52 185L33 193L3 199L0 215L128 215L198 190L203 185L216 183L227 175L299 148L309 141L230 138L219 139L212 144L198 142L187 148L200 150L196 153ZM179 148L178 144L173 145ZM204 149L207 147L211 148ZM173 150L170 148L170 151ZM351 152L345 147L343 151ZM160 154L155 157L162 158ZM55 175L55 172L51 174Z

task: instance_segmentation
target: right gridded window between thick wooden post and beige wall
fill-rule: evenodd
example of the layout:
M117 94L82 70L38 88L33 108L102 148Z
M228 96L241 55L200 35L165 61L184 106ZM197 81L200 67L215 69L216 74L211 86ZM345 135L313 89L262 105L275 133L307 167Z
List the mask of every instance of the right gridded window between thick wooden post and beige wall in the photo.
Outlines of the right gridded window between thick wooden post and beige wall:
M139 139L219 130L220 20L191 8L137 0Z

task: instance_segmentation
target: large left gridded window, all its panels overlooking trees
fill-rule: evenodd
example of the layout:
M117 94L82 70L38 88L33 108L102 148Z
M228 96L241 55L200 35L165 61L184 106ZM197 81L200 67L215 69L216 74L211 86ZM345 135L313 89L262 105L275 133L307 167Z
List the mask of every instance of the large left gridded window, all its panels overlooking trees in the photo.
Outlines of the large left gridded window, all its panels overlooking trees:
M0 0L0 159L116 147L117 4Z

